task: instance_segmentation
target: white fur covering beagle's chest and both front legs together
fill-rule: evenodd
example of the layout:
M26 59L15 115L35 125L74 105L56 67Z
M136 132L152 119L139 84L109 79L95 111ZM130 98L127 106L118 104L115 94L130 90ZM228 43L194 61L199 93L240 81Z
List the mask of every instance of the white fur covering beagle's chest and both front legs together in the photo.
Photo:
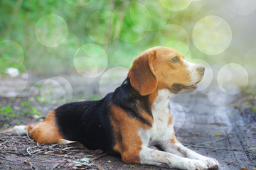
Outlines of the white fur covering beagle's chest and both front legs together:
M178 169L208 169L220 166L213 158L203 157L181 145L172 143L174 137L174 125L169 124L170 108L169 96L171 91L168 89L158 91L156 101L152 105L152 115L154 123L150 129L139 130L142 139L142 149L139 151L141 164L151 164ZM160 151L151 149L152 145L160 145ZM187 157L187 158L185 158Z

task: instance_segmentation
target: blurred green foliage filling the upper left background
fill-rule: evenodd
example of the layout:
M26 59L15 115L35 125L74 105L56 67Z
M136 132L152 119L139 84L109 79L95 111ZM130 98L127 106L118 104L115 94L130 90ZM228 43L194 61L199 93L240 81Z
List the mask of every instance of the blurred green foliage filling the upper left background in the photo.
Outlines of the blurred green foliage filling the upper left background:
M171 23L186 26L189 32L198 20L198 17L189 15L193 8L198 8L196 6L190 6L190 11L175 12L164 8L159 1L137 0L124 3L126 1L94 0L86 1L85 6L76 6L83 2L1 0L0 42L12 40L21 48L4 42L0 47L0 74L9 67L19 72L28 69L38 74L66 72L70 64L73 64L75 52L87 43L105 49L108 67L130 67L134 57L146 48L165 45L162 42L174 38L182 41L182 35L177 32L161 35L164 41L155 40L157 30ZM48 14L62 17L68 26L68 37L57 47L42 45L35 35L36 27L42 28L38 21ZM58 28L57 21L50 23L48 30L47 27L43 28L40 33L46 32L47 35ZM99 64L99 67L102 65L105 63Z

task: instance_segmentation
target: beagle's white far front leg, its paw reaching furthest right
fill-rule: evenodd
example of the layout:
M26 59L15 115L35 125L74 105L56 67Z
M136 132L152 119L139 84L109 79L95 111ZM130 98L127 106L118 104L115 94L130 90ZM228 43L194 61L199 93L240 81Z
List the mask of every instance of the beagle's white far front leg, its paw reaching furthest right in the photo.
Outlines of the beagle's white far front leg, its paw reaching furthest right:
M212 169L217 169L220 166L216 159L204 157L203 155L198 154L192 151L191 149L184 147L180 142L176 140L175 142L171 142L170 140L170 142L166 142L166 144L162 145L161 147L162 149L164 149L164 151L179 155L181 157L201 160L204 164L206 164L209 168Z

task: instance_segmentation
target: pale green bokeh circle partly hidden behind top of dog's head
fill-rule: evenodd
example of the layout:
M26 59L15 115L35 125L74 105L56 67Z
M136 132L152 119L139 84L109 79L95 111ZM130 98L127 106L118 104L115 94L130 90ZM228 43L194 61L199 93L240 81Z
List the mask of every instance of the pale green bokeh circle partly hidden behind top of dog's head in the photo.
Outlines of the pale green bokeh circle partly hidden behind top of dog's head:
M154 45L165 45L169 42L181 42L189 47L189 36L184 28L175 24L168 24L160 28L154 37Z

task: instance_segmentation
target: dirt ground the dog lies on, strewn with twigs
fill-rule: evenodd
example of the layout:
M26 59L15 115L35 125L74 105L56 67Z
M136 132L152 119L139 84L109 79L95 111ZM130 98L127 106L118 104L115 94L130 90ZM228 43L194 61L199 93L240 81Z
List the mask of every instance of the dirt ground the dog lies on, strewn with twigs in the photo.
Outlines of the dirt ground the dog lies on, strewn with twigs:
M91 96L98 93L97 89L88 91L95 91L95 94L87 94ZM80 95L78 91L73 92L73 96ZM1 106L12 108L21 106L22 101L28 101L28 98L0 98ZM171 101L176 136L183 145L218 159L223 170L256 169L256 114L252 110L256 104L255 96L217 93L213 100L201 91L195 91L171 96ZM55 108L55 104L32 102L31 105L38 108L41 116L26 114L8 120L0 117L0 127L41 121ZM120 157L101 150L90 151L77 145L38 145L27 136L8 133L0 134L0 169L164 170L157 166L124 164Z

